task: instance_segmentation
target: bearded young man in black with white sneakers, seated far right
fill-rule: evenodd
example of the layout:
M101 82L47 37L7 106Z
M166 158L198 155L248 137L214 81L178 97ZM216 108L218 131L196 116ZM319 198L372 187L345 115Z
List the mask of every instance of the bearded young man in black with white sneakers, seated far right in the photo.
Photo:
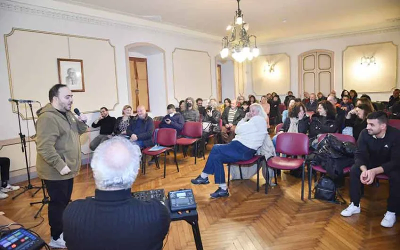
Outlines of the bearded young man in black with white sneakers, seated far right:
M375 111L367 117L357 141L354 165L350 171L350 205L341 211L342 216L361 212L361 184L372 184L377 174L389 177L387 211L380 225L392 227L396 213L400 212L400 131L387 125L387 114ZM372 198L372 197L370 197Z

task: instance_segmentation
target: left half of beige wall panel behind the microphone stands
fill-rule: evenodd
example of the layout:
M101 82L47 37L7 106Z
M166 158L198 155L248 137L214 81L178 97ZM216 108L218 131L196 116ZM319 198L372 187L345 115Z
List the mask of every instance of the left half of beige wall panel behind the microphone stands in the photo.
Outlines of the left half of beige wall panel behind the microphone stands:
M57 57L68 58L66 36L14 30L6 36L11 97L48 102L48 89L58 83ZM33 112L40 107L33 105ZM25 117L24 105L20 113ZM16 107L13 107L16 112ZM27 110L27 117L31 117Z

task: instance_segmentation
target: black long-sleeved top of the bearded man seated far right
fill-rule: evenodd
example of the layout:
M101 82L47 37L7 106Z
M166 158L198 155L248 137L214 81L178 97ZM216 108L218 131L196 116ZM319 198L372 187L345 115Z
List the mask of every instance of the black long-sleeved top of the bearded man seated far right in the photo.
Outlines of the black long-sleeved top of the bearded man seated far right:
M400 130L387 126L383 138L374 138L363 129L357 140L354 165L368 169L381 166L384 173L400 170Z

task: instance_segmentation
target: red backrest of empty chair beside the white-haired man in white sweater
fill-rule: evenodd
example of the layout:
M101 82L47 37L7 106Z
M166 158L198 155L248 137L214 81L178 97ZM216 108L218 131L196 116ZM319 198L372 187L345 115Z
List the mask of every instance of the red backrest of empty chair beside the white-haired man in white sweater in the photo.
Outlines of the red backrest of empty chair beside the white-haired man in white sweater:
M303 133L279 133L276 137L276 152L288 155L307 155L308 136Z

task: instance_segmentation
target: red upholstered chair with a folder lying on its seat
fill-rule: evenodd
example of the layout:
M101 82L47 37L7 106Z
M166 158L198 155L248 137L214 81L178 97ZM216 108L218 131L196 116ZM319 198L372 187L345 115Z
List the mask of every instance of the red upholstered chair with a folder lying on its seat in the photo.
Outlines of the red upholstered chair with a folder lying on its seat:
M142 172L144 174L146 173L146 157L144 155L157 156L157 155L159 155L161 153L164 153L164 178L165 178L166 152L168 150L173 150L176 169L179 172L178 162L176 161L176 147L175 147L175 145L176 145L176 130L173 129L173 128L160 128L160 129L158 129L158 132L157 132L157 144L159 144L160 146L166 146L166 147L163 148L163 149L157 150L157 151L150 151L149 149L151 148L151 146L143 149L143 151L142 151L142 154L143 154ZM154 160L156 161L156 164L159 167L157 157L154 157Z

